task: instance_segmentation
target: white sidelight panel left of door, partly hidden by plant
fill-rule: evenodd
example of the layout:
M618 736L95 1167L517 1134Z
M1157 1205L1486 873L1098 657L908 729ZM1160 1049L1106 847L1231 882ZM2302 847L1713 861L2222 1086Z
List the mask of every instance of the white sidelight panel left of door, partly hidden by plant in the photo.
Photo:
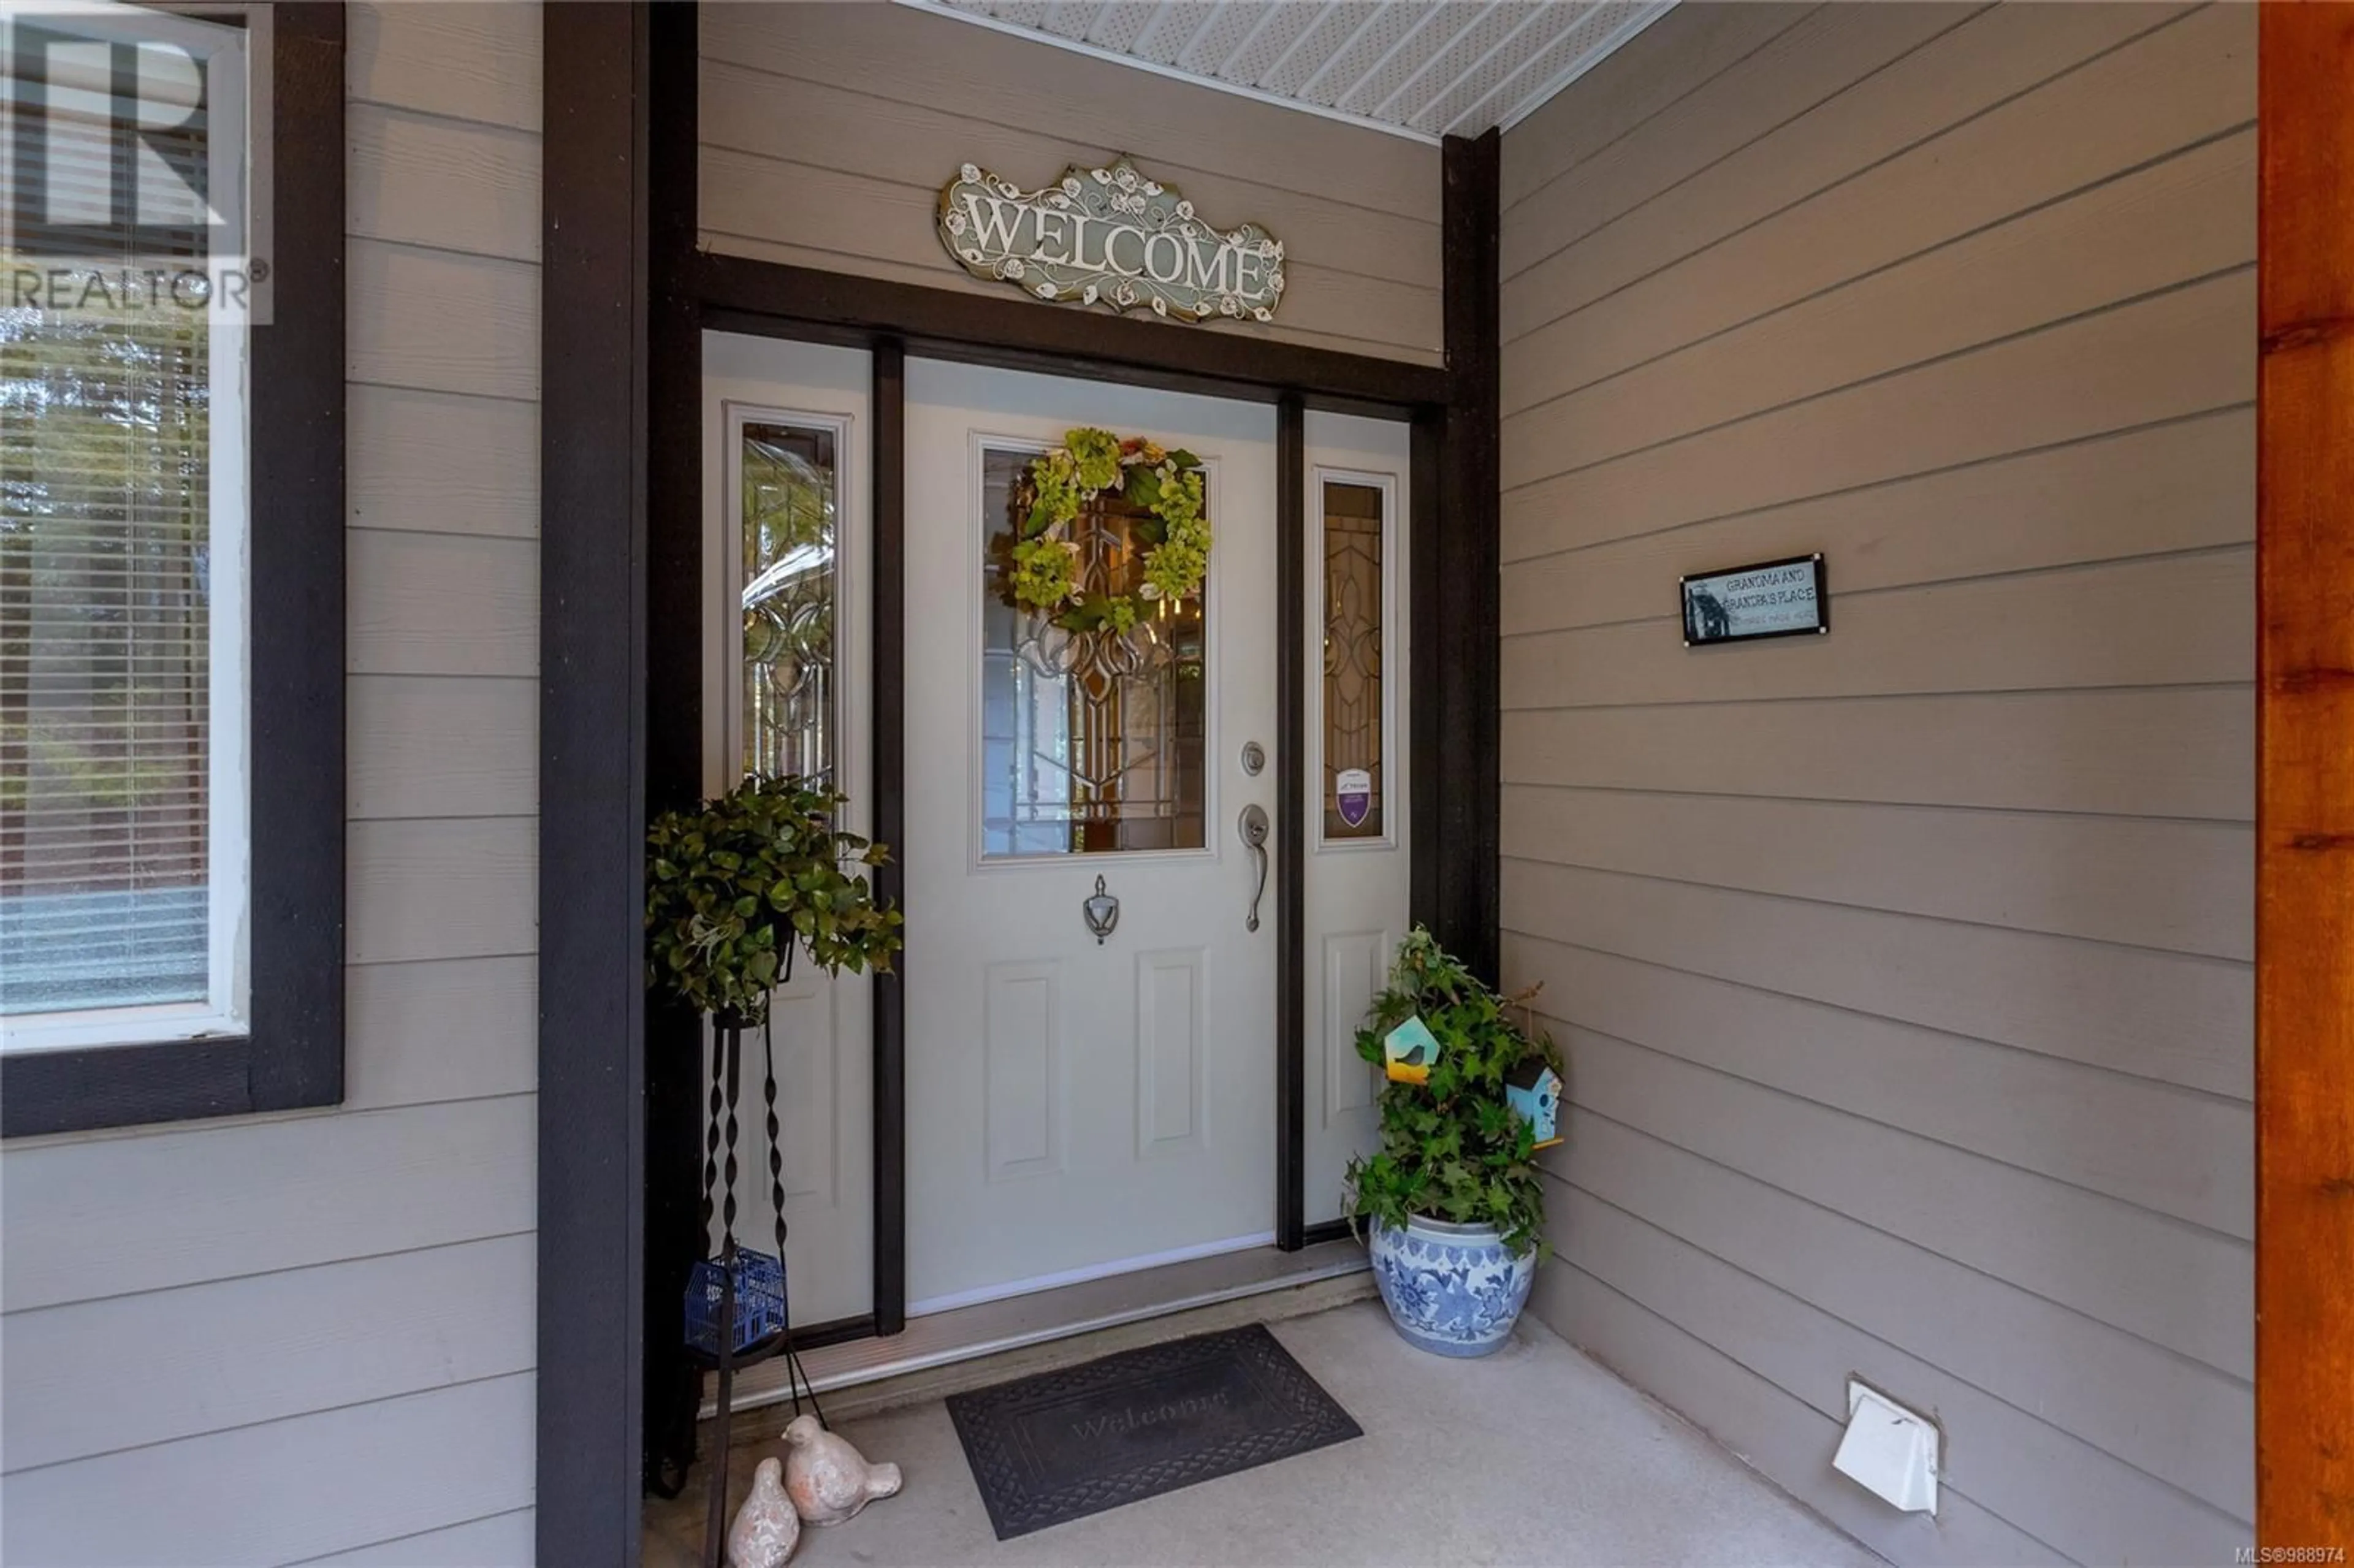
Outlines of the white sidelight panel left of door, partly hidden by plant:
M873 822L871 386L862 348L704 334L704 793L734 789L753 765L831 768L850 796L843 826L855 833ZM796 461L807 471L779 469ZM772 549L774 558L749 567L746 480L798 480L796 497L826 494L831 483L831 542ZM826 572L831 596L812 589ZM812 591L765 598L784 579ZM831 614L831 636L817 614ZM746 631L756 622L758 647ZM746 662L749 650L765 657L779 633L793 638L786 655ZM803 961L770 998L770 1019L793 1321L859 1316L873 1309L873 982L826 977ZM765 1253L774 1217L760 1050L760 1036L744 1041L737 1241ZM709 1059L706 1034L706 1095Z

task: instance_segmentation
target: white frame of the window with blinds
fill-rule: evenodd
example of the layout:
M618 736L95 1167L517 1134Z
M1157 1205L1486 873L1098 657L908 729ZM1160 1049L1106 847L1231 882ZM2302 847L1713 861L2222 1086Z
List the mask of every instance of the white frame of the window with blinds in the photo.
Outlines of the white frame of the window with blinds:
M254 170L250 122L254 61L268 59L264 7L247 19L259 28L233 28L191 16L172 16L113 0L24 0L12 21L71 21L75 31L120 42L169 42L205 61L207 80L207 198L228 233L247 233ZM259 33L259 49L257 45ZM214 257L214 271L224 261ZM137 1008L80 1008L71 1012L19 1012L0 1017L0 1052L78 1050L89 1045L155 1045L207 1041L250 1031L252 991L252 509L250 447L252 358L242 311L210 315L205 356L210 379L210 492L205 558L210 605L207 643L207 746L205 779L205 895L207 977L205 996L186 1003ZM221 419L221 410L235 410Z

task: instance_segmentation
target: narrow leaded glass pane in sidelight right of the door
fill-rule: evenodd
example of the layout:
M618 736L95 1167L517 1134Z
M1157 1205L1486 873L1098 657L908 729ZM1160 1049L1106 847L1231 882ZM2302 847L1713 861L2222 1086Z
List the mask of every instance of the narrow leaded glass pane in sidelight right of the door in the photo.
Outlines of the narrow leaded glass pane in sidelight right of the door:
M1387 490L1323 483L1323 836L1382 838Z

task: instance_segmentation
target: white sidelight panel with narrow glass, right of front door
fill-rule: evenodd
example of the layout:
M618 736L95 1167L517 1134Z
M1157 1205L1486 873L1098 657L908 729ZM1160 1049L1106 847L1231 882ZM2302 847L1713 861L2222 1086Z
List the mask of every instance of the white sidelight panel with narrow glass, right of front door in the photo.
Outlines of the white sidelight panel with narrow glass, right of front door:
M1375 1147L1377 1076L1356 1031L1408 923L1408 461L1401 421L1306 417L1309 1224L1339 1217L1349 1156Z

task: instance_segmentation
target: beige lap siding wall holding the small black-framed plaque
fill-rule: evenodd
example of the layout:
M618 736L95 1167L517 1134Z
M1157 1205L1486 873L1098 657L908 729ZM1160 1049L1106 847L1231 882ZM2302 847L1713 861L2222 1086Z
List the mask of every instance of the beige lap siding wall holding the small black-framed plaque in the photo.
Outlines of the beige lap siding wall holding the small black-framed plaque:
M1504 137L1535 1309L1907 1566L2250 1540L2253 120L2246 7L1685 2Z

